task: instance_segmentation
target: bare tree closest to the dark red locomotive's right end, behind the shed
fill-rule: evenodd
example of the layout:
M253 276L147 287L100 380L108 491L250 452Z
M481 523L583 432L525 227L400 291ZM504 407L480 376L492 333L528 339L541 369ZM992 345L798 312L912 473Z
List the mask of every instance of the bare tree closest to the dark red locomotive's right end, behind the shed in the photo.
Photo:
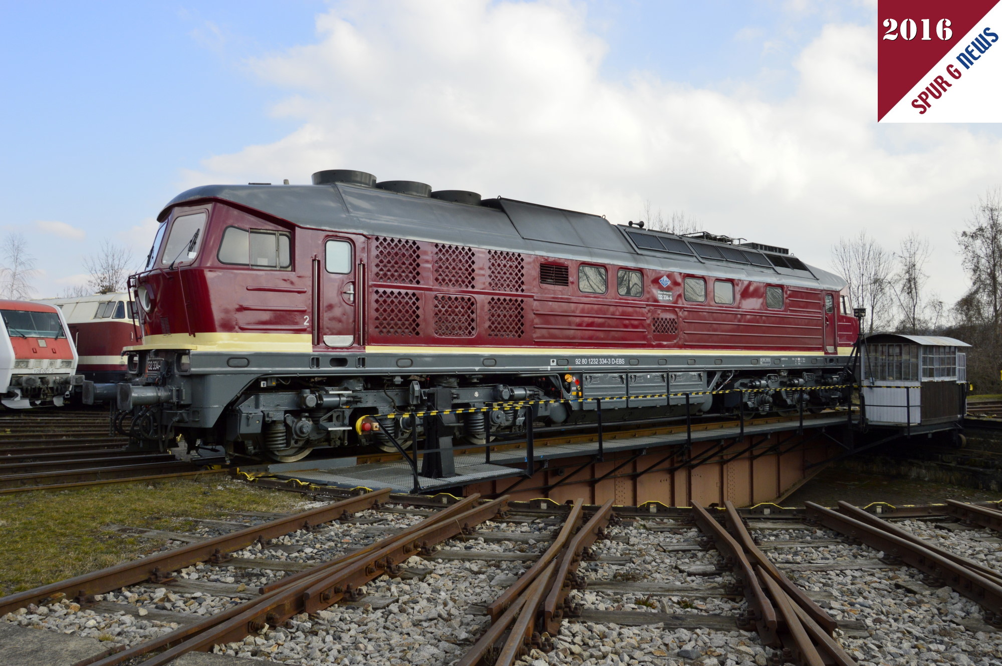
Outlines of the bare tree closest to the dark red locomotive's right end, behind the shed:
M861 231L855 238L840 238L832 247L835 269L849 282L849 299L854 306L867 308L867 334L891 320L892 256L873 238Z

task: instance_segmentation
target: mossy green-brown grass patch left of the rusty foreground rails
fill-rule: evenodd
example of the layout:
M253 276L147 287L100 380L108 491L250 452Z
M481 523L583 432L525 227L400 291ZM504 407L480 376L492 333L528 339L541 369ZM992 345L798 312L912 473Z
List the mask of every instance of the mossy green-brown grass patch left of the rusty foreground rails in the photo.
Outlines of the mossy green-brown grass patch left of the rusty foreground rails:
M301 500L222 477L0 495L0 596L133 560L165 543L101 529L110 523L183 532L191 525L184 518L293 512Z

